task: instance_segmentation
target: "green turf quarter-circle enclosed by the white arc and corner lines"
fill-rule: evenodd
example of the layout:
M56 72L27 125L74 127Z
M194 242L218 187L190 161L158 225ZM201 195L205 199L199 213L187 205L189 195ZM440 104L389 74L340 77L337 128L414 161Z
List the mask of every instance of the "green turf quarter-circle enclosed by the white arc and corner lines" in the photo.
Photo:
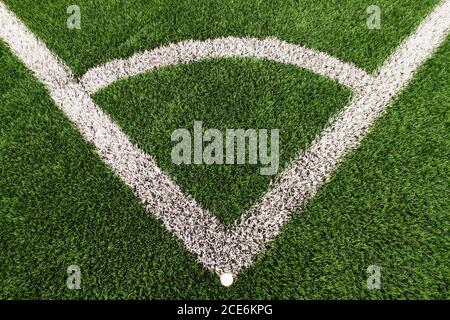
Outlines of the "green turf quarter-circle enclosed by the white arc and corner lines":
M260 164L175 165L172 132L187 128L193 136L194 121L224 134L226 129L278 129L281 174L350 96L349 89L295 66L213 59L123 80L94 99L184 191L230 224L276 176L261 175Z

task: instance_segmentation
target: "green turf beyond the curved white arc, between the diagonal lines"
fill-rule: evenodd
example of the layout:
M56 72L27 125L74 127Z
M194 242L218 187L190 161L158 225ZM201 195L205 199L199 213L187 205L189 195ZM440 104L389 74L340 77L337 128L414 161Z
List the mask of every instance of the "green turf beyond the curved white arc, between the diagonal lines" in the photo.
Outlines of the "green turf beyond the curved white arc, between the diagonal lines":
M373 71L439 0L6 0L77 74L112 58L185 39L278 37ZM69 30L69 5L81 30ZM382 31L368 30L369 5Z

